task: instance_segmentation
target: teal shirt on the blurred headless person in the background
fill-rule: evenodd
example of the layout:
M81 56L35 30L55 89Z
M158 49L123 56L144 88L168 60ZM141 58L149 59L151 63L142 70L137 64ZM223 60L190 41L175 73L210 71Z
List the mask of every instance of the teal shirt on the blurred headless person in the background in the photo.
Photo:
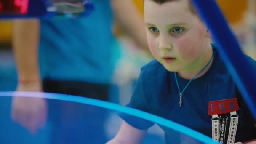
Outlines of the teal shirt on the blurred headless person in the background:
M52 80L109 83L112 64L110 0L93 1L91 15L77 19L42 19L40 72Z

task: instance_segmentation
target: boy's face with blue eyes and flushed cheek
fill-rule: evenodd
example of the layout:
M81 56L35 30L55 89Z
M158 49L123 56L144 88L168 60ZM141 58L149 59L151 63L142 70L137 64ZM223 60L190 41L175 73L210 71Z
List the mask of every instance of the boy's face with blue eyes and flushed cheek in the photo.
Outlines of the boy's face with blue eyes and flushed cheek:
M207 29L187 0L163 4L145 0L144 19L150 51L168 71L191 69L209 45Z

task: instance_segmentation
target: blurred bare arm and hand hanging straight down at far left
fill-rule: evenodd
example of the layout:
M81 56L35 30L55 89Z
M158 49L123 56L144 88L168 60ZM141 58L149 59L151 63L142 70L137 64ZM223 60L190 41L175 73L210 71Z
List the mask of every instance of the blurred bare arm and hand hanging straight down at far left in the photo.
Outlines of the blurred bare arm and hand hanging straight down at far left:
M17 91L42 91L38 68L39 21L13 21L13 48L18 71ZM32 133L44 127L47 103L43 98L13 97L11 117Z

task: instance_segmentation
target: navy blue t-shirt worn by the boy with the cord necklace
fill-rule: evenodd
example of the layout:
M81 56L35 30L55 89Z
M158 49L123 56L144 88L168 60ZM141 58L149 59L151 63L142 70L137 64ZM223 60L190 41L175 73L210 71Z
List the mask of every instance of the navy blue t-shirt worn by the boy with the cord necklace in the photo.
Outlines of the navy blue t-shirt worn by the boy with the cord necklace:
M173 72L169 72L158 61L151 61L141 69L128 107L139 109L164 117L173 122L192 128L209 137L212 136L212 116L208 115L208 102L237 97L239 110L236 141L249 141L256 138L254 120L242 96L238 94L223 59L213 48L214 58L211 67L201 77L192 80L183 93L182 106L179 106L179 91ZM256 68L256 61L246 56ZM179 77L177 80L181 90L189 80ZM230 114L225 114L229 115ZM224 115L224 116L225 116ZM147 129L154 123L131 120L127 115L120 114L127 123L135 128ZM228 123L229 125L229 123ZM160 125L160 127L162 127ZM165 127L165 140L168 144L177 143L177 136ZM228 131L228 130L226 130ZM227 137L227 136L226 136Z

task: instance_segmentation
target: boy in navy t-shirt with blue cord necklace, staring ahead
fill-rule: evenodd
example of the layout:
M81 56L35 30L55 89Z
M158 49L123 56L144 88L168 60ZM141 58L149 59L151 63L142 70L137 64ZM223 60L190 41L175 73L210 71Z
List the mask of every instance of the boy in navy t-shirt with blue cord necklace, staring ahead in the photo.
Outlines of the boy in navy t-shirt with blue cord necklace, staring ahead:
M128 107L180 123L221 143L255 139L254 120L190 0L144 0L144 20L156 60L141 69ZM120 116L124 122L108 144L140 143L153 125L138 125ZM230 125L230 118L235 125ZM176 144L177 139L165 131L166 143Z

